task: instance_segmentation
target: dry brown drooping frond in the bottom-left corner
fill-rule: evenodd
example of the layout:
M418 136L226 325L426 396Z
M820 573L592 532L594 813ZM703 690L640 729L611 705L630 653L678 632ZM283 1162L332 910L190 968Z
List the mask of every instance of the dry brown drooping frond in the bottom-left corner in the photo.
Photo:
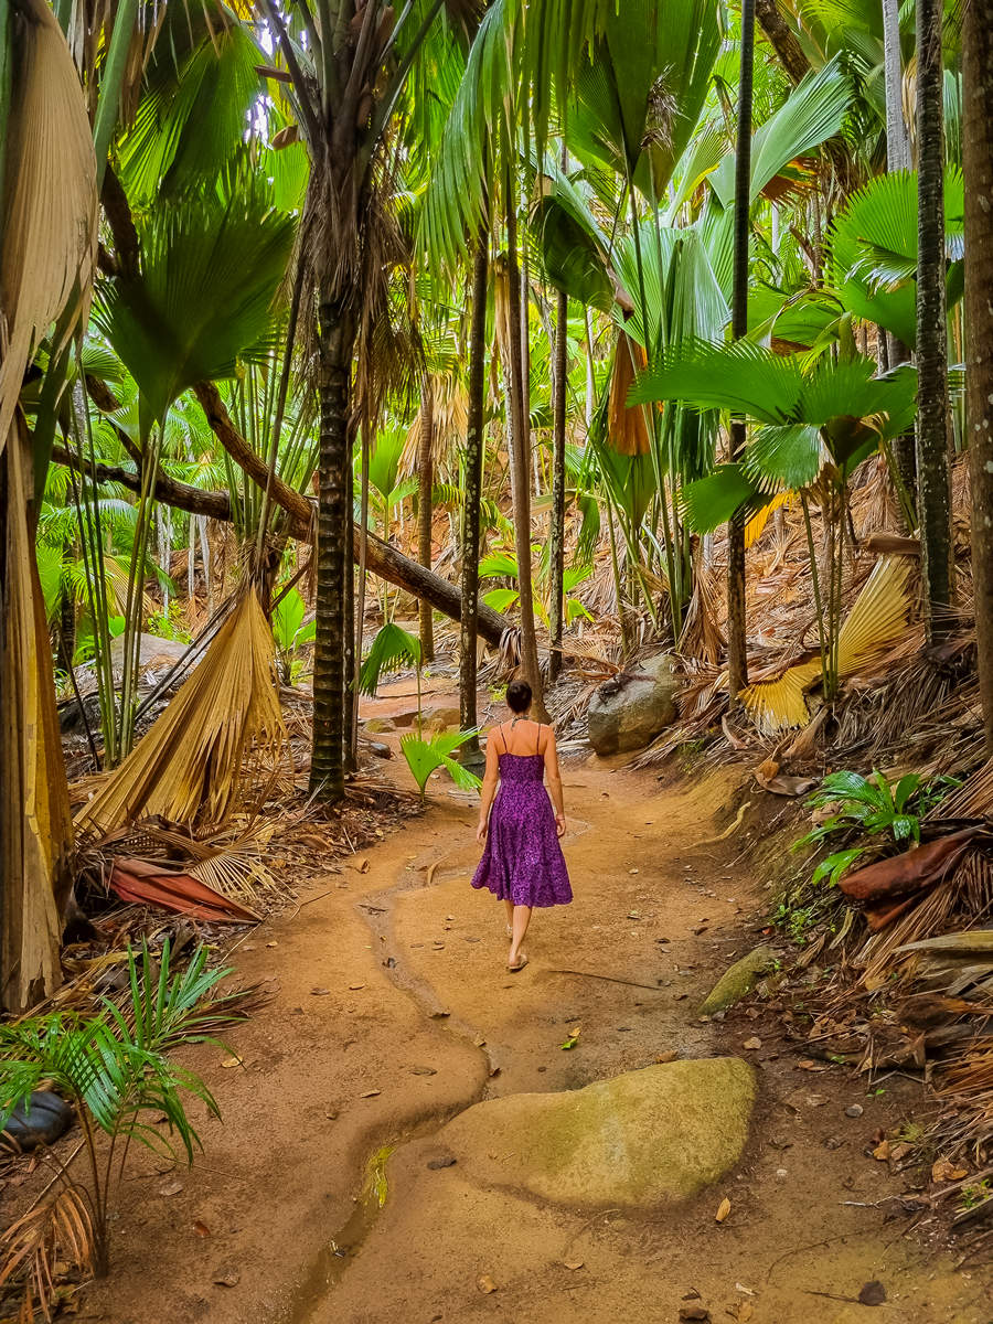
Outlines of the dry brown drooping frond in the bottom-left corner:
M56 1264L68 1262L82 1274L93 1272L95 1235L89 1196L75 1184L62 1186L50 1200L36 1205L0 1237L0 1287L25 1279L23 1317L32 1319L34 1301L52 1319L56 1296Z

